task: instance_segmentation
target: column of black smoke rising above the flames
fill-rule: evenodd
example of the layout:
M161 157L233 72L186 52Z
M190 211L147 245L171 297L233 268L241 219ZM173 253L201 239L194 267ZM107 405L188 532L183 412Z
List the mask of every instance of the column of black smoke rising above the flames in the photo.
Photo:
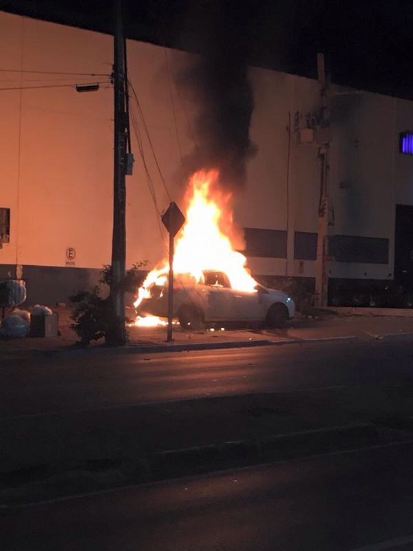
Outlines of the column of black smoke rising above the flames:
M198 109L193 152L184 158L184 169L218 168L221 183L231 189L244 184L246 163L256 149L249 134L254 108L248 79L251 11L240 5L200 1L187 20L199 55L180 78Z

